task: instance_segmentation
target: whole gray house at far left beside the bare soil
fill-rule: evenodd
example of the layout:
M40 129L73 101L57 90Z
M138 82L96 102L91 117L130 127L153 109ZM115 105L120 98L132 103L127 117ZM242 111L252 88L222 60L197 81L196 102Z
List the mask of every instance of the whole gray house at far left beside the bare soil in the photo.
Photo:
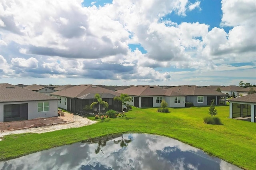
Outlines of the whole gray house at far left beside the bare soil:
M0 84L0 122L58 116L58 99L8 83Z

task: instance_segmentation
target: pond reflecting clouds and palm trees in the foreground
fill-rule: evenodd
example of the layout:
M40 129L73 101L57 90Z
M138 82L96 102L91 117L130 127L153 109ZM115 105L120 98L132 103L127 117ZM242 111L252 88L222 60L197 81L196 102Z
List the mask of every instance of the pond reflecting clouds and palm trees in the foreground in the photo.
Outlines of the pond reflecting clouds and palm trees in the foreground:
M240 170L178 140L114 134L0 162L4 170Z

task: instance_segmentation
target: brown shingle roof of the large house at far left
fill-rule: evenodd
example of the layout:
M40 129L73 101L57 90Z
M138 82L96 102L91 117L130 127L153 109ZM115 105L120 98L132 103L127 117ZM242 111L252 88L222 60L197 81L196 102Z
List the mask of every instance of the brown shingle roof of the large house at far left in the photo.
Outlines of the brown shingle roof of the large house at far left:
M12 87L12 88L6 88ZM13 88L14 87L14 88ZM11 85L8 83L0 84L0 102L16 102L16 101L42 101L42 100L58 100L55 97L44 95L36 91L31 91Z

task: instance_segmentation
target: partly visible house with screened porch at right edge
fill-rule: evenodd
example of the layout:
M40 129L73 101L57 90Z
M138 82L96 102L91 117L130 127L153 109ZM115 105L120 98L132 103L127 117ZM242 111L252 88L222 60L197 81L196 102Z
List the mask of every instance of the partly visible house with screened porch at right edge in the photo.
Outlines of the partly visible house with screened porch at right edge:
M229 118L256 122L256 93L229 99Z

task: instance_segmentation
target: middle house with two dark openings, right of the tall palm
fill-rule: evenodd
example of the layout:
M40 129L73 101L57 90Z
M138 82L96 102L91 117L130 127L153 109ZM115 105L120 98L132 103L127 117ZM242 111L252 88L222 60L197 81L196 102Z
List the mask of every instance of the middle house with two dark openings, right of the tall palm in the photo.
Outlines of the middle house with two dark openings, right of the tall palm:
M136 107L160 107L162 100L168 103L168 107L185 107L186 95L159 86L138 85L116 92L131 96L132 101L127 104Z

